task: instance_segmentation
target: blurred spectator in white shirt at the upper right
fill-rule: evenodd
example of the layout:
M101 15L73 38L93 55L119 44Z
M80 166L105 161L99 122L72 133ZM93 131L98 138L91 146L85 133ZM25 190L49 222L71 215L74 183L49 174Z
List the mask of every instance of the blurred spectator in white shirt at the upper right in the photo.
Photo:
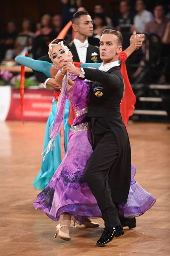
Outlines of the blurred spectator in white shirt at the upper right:
M153 20L153 15L151 12L145 10L146 6L144 0L136 0L135 8L137 11L134 17L135 30L139 33L144 33L145 26L148 22Z

